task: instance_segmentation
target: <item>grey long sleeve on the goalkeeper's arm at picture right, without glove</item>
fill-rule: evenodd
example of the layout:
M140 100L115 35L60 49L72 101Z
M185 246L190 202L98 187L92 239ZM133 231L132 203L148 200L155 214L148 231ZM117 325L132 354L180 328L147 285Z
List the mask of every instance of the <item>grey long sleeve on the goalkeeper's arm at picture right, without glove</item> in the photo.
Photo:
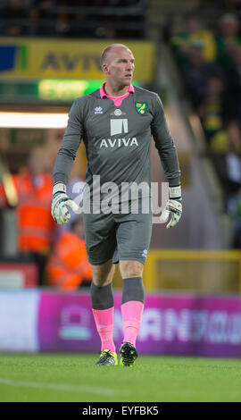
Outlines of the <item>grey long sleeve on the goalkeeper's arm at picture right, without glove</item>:
M179 158L166 122L162 101L158 95L155 95L154 120L151 124L151 131L165 176L170 187L175 187L180 183Z

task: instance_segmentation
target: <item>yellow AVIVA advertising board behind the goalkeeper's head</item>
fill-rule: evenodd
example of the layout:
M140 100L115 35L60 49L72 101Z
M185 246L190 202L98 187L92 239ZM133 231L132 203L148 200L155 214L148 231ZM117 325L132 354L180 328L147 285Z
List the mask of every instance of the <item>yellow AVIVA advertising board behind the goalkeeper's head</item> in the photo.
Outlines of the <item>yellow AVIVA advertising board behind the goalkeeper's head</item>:
M135 80L154 80L155 45L150 41L114 41L129 46L136 58ZM0 80L103 80L100 56L110 41L0 38Z

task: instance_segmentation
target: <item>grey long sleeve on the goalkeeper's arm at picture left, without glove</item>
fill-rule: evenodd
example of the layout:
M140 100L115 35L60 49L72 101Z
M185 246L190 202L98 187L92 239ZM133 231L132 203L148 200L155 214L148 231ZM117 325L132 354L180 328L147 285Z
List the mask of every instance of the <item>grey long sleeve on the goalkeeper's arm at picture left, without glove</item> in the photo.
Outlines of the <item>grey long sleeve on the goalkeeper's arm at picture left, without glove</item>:
M79 103L75 101L71 106L68 126L65 130L62 146L54 164L54 182L62 181L64 184L67 184L83 131L80 106Z

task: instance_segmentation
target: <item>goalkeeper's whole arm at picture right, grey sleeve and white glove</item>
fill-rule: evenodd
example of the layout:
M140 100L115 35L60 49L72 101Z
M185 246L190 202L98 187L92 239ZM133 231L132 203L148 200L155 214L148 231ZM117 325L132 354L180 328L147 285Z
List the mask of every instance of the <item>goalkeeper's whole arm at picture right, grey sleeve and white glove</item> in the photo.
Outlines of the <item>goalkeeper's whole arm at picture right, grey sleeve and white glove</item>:
M166 226L167 229L169 229L179 222L182 214L180 169L177 149L170 136L170 130L166 122L162 101L158 95L155 97L154 121L152 122L151 130L154 137L155 147L160 155L165 176L169 181L170 199L168 200L160 217L161 223L166 223L170 215L170 222Z

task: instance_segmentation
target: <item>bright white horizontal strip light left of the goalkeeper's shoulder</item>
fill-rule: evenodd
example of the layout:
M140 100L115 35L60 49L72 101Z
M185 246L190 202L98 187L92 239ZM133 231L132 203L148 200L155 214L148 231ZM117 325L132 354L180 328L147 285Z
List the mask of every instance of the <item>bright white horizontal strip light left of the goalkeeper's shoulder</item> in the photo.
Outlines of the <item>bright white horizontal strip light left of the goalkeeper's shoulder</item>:
M9 129L64 129L68 113L2 113L0 128Z

